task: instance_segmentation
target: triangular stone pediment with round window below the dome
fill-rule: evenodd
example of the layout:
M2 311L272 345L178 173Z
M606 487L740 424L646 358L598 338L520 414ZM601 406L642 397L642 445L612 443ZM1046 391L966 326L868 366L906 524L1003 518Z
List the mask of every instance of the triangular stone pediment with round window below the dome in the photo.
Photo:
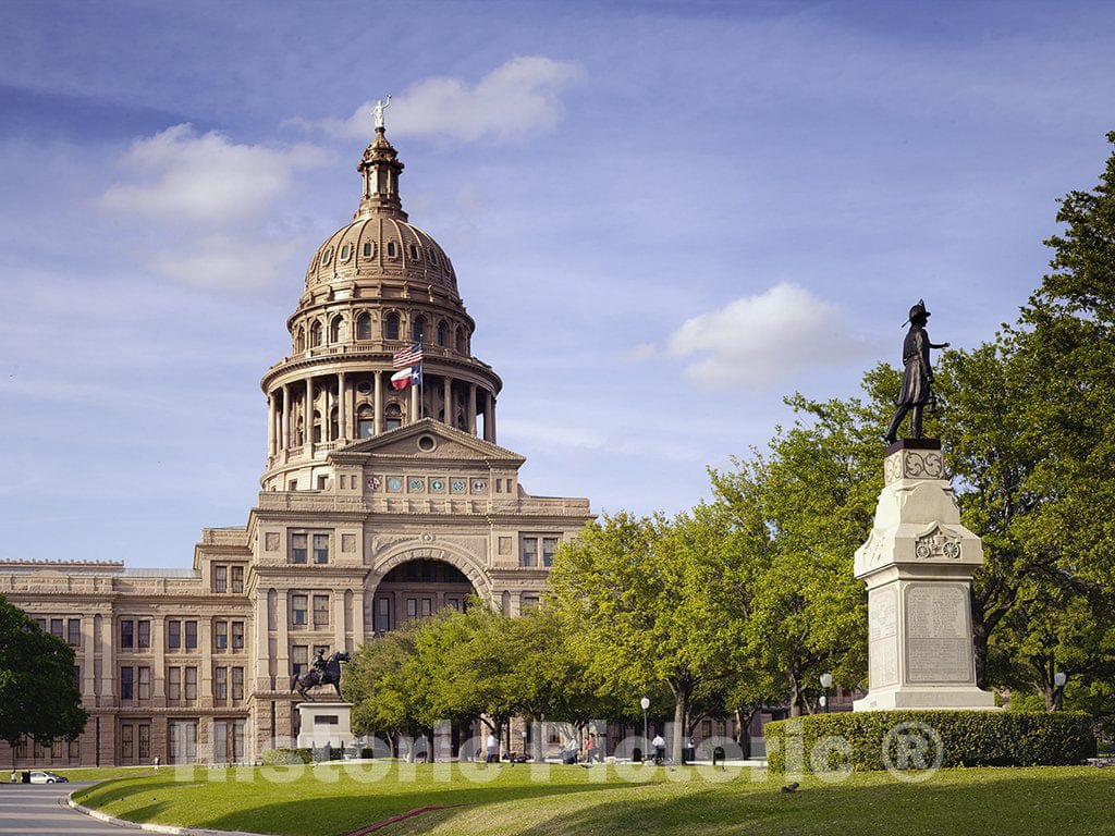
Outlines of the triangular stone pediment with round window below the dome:
M333 453L333 458L338 461L343 461L350 456L359 459L505 463L514 467L526 460L516 453L462 432L433 418L424 418L416 424L388 430Z

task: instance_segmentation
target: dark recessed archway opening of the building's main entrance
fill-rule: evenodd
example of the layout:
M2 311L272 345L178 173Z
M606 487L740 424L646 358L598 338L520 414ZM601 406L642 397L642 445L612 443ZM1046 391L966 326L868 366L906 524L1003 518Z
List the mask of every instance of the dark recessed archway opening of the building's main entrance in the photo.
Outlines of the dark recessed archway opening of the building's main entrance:
M372 594L372 629L377 635L425 619L442 610L465 609L476 589L446 561L415 557L389 568Z

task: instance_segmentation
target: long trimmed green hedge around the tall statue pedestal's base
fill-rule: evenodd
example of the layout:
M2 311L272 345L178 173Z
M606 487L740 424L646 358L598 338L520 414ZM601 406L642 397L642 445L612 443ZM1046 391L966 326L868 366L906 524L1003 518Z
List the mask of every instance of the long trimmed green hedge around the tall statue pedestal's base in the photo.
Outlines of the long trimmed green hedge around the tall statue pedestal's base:
M1079 711L862 711L777 720L765 733L767 767L796 774L1079 764L1095 754L1092 729Z

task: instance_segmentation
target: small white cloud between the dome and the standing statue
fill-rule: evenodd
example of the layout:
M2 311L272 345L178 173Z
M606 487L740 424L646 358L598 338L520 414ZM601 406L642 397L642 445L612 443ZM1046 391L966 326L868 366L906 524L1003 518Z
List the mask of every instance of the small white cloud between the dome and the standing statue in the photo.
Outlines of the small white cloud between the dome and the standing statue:
M871 344L849 336L846 319L840 305L780 282L687 320L670 334L666 353L690 358L686 378L701 388L762 388L862 357Z

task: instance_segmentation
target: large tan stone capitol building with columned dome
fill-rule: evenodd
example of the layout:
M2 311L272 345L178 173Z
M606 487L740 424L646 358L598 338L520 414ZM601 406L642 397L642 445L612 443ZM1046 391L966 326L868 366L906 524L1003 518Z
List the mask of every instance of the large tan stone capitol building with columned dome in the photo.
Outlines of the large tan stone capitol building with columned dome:
M89 713L74 741L0 742L0 762L254 761L297 737L291 678L317 649L471 595L507 615L537 603L589 500L520 484L525 459L497 444L502 381L472 353L453 262L403 210L403 168L377 126L352 222L311 255L290 353L263 375L266 464L243 526L203 528L192 570L0 562L0 594L74 647Z

